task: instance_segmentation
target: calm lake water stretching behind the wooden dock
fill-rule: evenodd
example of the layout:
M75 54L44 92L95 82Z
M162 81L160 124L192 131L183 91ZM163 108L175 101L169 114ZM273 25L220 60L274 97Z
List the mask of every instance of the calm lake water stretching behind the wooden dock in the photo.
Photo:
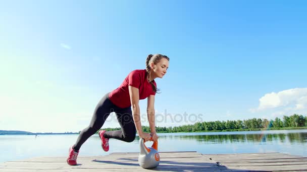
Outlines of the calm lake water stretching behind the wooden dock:
M159 151L197 151L199 153L283 152L307 156L307 130L161 133ZM67 156L78 135L0 135L0 162L37 156ZM138 152L139 137L126 143L110 139L110 150L100 147L98 135L90 137L79 156L99 156L112 152ZM152 142L146 142L151 146Z

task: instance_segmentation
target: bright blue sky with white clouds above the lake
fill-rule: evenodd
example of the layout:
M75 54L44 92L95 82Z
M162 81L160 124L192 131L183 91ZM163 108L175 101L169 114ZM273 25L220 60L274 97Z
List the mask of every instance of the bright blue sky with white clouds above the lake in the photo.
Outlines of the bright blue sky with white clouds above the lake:
M156 79L157 126L191 124L193 114L306 115L306 9L305 1L3 2L0 130L82 130L101 97L155 53L170 57ZM146 100L140 106L145 116ZM104 127L119 127L114 114Z

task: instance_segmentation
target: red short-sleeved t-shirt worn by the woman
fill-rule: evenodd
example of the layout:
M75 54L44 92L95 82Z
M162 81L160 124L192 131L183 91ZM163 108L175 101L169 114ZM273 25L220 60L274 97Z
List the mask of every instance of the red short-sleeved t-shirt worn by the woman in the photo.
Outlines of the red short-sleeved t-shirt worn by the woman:
M157 88L156 81L153 80L152 82ZM146 69L133 70L128 74L120 87L109 94L111 102L119 108L127 108L131 106L128 85L138 88L140 100L143 100L150 95L156 95L156 93L152 91L151 84L147 81Z

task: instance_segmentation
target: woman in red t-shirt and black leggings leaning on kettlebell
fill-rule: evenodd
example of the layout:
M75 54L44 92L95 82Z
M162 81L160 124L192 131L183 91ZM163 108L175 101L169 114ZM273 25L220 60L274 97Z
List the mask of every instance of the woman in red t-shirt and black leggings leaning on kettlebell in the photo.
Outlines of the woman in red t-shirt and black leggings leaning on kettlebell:
M67 163L77 164L77 156L81 145L93 134L95 134L105 123L110 113L115 112L121 130L98 132L101 146L105 151L109 150L109 139L114 138L125 142L135 139L136 131L139 137L145 141L158 140L155 128L155 95L157 89L157 77L162 78L169 68L169 57L161 54L151 55L146 58L146 69L133 70L125 78L119 88L107 93L95 108L93 117L88 127L83 129L76 143L69 148ZM140 122L139 100L147 98L147 117L150 134L142 131Z

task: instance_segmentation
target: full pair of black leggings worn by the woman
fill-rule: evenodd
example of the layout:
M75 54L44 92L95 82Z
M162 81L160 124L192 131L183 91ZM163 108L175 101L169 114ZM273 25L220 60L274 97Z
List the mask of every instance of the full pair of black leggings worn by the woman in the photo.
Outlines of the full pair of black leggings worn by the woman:
M104 125L108 116L112 112L116 113L117 120L122 130L106 131L104 137L132 142L135 139L136 129L132 118L131 107L117 107L110 101L109 93L107 93L96 106L89 126L80 132L74 149L79 150L81 145Z

